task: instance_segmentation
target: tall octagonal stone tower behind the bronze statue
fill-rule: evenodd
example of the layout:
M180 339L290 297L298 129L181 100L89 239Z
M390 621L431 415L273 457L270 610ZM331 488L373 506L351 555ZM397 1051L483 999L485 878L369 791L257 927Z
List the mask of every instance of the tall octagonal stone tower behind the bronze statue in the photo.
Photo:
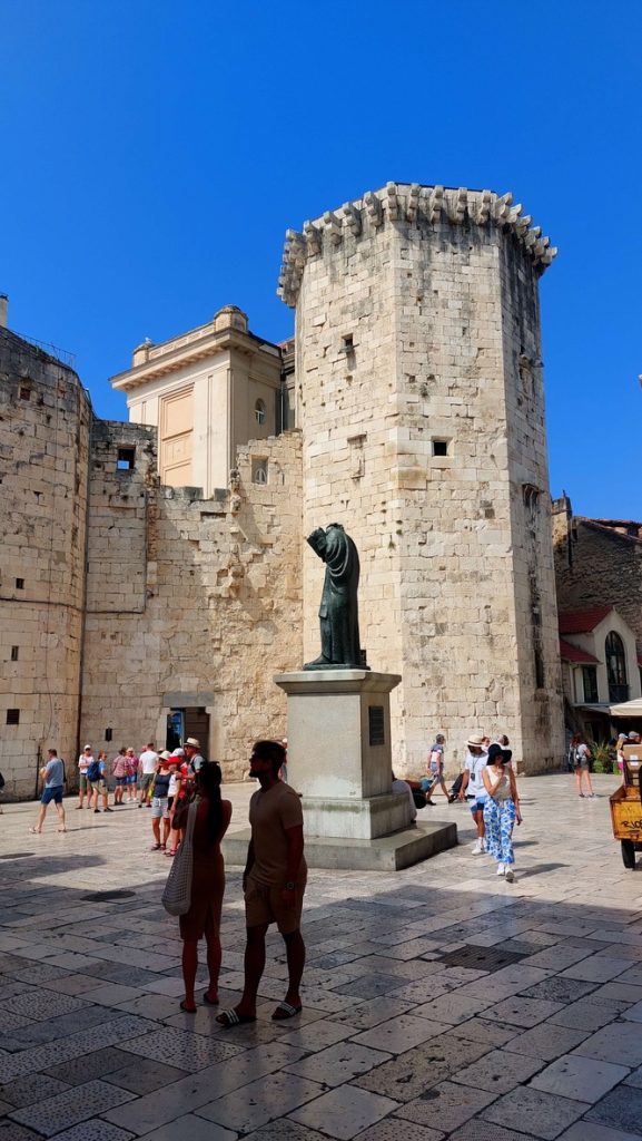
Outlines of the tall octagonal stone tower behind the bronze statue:
M389 183L286 234L303 529L361 558L361 644L392 695L393 763L474 733L559 763L562 704L538 280L555 254L510 194ZM303 567L318 653L318 560Z

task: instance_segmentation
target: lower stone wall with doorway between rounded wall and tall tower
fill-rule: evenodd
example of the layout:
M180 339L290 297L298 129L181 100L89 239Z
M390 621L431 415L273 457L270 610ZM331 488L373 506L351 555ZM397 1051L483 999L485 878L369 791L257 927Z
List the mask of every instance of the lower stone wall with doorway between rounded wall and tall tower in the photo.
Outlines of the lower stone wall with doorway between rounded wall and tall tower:
M139 432L132 471L114 470ZM168 488L154 432L103 424L92 467L82 735L103 747L164 745L171 705L204 704L226 779L257 736L284 736L273 675L300 665L300 435L239 448L229 488ZM267 483L252 480L257 462ZM119 558L119 552L121 558ZM192 697L190 697L192 695Z

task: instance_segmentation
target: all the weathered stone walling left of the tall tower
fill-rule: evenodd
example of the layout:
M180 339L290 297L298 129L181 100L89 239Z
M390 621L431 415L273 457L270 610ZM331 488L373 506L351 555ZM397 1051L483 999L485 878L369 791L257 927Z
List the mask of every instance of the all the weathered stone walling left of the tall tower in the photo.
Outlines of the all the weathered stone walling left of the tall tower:
M33 795L50 745L70 784L86 741L164 745L170 696L194 694L204 750L241 777L257 734L285 733L271 678L302 655L300 435L239 448L212 499L162 487L155 429L96 419L72 370L6 330L0 418L7 794Z

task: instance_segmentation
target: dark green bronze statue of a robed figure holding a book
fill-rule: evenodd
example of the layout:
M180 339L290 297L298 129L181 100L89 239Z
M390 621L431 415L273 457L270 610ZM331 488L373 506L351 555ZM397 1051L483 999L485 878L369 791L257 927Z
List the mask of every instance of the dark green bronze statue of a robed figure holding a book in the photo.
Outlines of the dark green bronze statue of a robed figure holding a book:
M308 542L325 563L319 607L322 652L304 670L364 670L359 642L359 556L340 523L317 527Z

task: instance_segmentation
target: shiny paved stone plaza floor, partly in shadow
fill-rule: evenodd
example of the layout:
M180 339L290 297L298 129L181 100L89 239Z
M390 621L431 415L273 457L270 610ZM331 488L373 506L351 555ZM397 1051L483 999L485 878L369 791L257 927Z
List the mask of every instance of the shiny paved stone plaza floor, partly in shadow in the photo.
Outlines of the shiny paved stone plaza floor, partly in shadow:
M642 869L608 794L520 782L513 884L461 845L406 872L310 873L303 1013L274 1023L282 942L255 1025L184 1014L169 860L149 812L67 801L0 818L0 1141L633 1141L642 1138ZM235 785L234 826L253 786ZM124 898L104 900L101 892ZM242 984L241 869L228 872L221 1000Z

